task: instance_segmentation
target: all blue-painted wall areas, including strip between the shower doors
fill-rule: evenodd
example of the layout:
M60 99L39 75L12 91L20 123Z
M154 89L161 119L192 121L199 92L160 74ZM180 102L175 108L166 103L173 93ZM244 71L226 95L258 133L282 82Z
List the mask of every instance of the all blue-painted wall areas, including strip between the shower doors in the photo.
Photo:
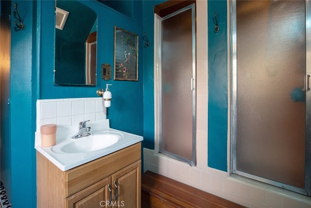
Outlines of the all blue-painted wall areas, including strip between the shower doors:
M144 147L154 149L154 14L162 0L133 1L133 18L128 18L97 1L81 1L98 14L97 74L103 63L113 65L114 26L139 36L138 81L104 81L97 86L53 84L54 1L17 0L25 28L14 30L11 57L11 167L6 172L15 208L36 207L35 100L68 97L97 97L96 90L113 84L112 106L107 117L112 128L144 136ZM12 11L14 2L12 2ZM208 30L208 166L226 171L227 154L227 37L226 1L208 1L208 14L218 14L220 32ZM13 16L12 16L13 17ZM214 28L209 15L208 28ZM14 17L13 17L14 18ZM113 21L111 21L113 19ZM198 25L199 27L199 25ZM40 33L37 33L40 31ZM150 41L144 48L143 32ZM18 128L18 131L16 131ZM22 136L21 136L22 135ZM6 175L1 175L1 178Z

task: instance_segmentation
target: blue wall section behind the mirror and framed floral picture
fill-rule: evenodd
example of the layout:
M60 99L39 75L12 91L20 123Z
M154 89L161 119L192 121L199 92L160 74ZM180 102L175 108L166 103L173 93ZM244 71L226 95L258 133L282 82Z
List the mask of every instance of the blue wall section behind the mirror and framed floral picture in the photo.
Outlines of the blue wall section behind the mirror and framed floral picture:
M110 126L126 132L143 135L143 41L142 41L142 3L133 1L134 17L110 9L97 1L81 1L92 8L98 15L97 31L97 85L96 86L61 86L54 85L54 1L43 0L41 22L41 70L40 70L40 99L68 97L98 97L97 89L103 89L106 83L112 84L111 107L107 110ZM113 21L112 21L113 20ZM138 42L138 81L104 81L101 78L101 65L114 61L114 26L135 33ZM47 50L49 49L49 50ZM114 69L113 69L114 70Z

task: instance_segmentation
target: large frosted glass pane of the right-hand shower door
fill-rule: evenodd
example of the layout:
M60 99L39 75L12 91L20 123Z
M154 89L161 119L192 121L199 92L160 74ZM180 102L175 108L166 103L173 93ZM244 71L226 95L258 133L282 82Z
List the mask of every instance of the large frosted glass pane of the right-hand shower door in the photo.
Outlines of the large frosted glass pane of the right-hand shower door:
M307 170L305 3L236 1L232 172L297 192Z

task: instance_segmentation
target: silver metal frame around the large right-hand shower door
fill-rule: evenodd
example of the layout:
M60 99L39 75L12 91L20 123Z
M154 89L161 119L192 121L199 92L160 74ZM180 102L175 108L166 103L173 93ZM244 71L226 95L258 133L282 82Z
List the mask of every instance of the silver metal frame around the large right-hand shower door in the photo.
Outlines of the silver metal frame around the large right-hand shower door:
M301 194L311 195L311 91L306 90L306 132L305 132L305 187L300 189L294 186L276 182L273 180L265 179L259 176L255 176L249 173L245 173L237 170L237 26L236 26L236 0L228 0L228 52L229 63L228 73L231 75L231 158L230 158L230 175L242 176L257 180L266 184L270 184L276 187L292 190ZM311 75L311 0L306 0L306 77ZM306 83L310 82L305 79ZM230 88L229 88L230 89ZM307 88L306 88L307 89ZM230 98L230 97L229 97ZM309 105L307 105L309 103ZM229 123L230 123L229 122Z

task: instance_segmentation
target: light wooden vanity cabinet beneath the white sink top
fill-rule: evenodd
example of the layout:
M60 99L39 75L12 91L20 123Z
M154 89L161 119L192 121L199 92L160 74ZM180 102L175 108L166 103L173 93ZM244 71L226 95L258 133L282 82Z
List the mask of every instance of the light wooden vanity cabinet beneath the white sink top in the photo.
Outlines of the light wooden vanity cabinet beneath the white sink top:
M137 143L62 171L37 151L37 207L140 208L140 155Z

